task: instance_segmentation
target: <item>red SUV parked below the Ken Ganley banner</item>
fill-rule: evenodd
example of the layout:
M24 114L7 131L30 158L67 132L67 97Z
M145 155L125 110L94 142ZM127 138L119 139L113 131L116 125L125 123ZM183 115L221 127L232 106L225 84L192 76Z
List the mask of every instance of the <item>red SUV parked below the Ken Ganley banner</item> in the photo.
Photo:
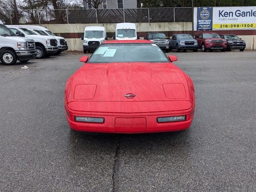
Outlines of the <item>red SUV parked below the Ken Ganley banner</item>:
M216 33L199 33L196 34L195 39L197 40L198 48L201 48L203 52L214 49L219 49L222 52L227 50L227 41Z

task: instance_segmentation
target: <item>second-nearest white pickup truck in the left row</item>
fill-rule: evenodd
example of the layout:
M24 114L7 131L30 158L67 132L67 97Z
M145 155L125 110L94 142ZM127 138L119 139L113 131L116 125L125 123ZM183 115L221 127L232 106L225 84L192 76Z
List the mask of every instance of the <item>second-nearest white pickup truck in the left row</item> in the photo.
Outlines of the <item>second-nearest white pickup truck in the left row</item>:
M33 39L36 43L36 58L44 58L58 51L57 40L51 36L38 35L22 26L6 25L14 34Z

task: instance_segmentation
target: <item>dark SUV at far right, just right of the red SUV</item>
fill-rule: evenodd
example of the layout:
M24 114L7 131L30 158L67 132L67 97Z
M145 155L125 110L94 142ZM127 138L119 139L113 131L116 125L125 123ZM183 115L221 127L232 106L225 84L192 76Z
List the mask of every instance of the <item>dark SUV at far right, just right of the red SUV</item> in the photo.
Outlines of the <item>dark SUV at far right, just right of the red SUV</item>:
M226 39L226 41L228 42L228 51L230 51L231 49L239 49L240 51L244 51L246 47L245 41L236 35L224 34L220 35L220 37L222 39Z

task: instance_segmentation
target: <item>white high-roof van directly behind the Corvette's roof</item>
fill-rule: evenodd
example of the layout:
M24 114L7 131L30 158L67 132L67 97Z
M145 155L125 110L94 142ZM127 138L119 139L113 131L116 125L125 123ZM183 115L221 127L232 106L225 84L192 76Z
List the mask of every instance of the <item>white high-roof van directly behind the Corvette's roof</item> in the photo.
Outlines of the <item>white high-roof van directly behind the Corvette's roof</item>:
M114 40L137 40L137 30L134 23L118 23L116 24L116 34Z

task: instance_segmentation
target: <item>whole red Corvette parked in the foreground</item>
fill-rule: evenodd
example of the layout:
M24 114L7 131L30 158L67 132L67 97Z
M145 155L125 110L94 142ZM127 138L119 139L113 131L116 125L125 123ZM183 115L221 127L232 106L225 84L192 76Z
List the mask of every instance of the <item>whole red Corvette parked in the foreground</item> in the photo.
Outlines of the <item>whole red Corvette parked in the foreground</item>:
M80 58L66 84L65 112L73 130L152 133L188 129L194 117L191 78L152 41L104 42Z

